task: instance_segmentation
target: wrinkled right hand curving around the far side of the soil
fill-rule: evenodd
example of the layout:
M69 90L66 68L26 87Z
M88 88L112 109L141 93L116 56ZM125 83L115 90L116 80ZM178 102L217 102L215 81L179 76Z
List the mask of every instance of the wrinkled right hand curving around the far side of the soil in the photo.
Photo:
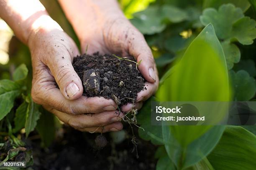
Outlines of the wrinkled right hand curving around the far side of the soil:
M140 109L142 102L156 92L159 84L158 72L151 49L148 47L143 35L126 18L97 18L91 21L90 27L80 35L82 52L88 46L87 53L100 51L100 53L118 54L123 57L132 55L137 62L139 71L146 79L146 90L138 93L134 108ZM105 21L105 22L104 22ZM101 23L101 24L100 24ZM80 25L77 25L80 27ZM77 29L79 30L79 29ZM131 110L132 104L123 106L122 110Z

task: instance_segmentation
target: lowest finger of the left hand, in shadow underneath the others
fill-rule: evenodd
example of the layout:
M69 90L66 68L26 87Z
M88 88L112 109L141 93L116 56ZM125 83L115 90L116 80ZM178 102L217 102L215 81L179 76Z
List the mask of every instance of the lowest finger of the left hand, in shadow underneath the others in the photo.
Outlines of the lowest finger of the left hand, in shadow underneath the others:
M106 133L106 132L116 132L123 129L123 124L121 122L111 123L106 126L99 126L93 128L78 128L82 132L90 132L90 133Z

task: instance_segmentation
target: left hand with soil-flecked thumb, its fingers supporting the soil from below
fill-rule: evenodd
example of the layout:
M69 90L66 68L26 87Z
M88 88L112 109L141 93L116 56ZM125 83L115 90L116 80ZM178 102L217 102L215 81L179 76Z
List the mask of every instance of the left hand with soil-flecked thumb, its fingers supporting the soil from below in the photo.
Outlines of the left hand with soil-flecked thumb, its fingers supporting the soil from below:
M123 113L119 115L113 100L82 96L82 82L72 67L73 57L79 54L73 40L51 18L41 20L51 26L36 26L28 40L33 66L33 100L75 129L121 130L123 125L119 120Z

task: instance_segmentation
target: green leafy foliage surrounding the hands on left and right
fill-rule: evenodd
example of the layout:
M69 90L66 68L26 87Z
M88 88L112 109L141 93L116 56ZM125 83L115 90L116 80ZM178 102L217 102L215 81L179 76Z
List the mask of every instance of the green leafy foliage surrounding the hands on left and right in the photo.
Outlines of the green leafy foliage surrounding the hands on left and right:
M41 2L79 47L59 4ZM256 100L256 0L119 2L145 35L161 78L156 97L144 103L137 117L143 128L140 137L159 146L156 169L254 170L255 126L156 127L151 126L150 106L154 100ZM17 138L21 129L25 128L26 137L36 130L42 145L49 146L58 126L55 117L31 99L28 48L15 37L9 46L10 60L0 65L0 149L6 145L4 136L13 143L7 159L23 151L24 143ZM31 153L26 154L31 163Z

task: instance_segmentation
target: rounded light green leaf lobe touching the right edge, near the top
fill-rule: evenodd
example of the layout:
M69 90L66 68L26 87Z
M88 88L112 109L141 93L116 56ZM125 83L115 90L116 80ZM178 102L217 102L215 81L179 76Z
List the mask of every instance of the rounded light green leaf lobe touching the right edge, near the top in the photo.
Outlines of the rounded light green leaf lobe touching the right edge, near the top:
M243 45L250 45L256 38L256 21L249 17L238 20L233 25L232 37L236 38Z

